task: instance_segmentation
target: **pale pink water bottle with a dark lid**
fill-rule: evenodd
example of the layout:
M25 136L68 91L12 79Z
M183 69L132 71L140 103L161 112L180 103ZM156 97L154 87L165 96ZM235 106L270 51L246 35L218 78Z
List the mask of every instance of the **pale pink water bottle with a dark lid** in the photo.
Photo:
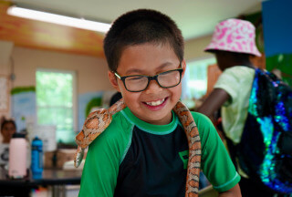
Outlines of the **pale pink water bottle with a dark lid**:
M14 133L9 144L8 175L12 179L26 176L26 134Z

